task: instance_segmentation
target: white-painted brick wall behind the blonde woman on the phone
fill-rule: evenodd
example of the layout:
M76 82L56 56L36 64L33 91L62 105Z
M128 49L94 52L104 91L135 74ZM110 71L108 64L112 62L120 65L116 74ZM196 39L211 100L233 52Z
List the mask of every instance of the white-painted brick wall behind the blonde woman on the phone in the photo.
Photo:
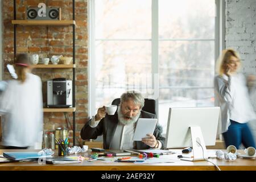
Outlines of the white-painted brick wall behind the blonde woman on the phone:
M242 72L256 74L256 1L225 0L226 48L236 49L242 59ZM256 111L256 96L251 101ZM256 121L250 122L256 141Z

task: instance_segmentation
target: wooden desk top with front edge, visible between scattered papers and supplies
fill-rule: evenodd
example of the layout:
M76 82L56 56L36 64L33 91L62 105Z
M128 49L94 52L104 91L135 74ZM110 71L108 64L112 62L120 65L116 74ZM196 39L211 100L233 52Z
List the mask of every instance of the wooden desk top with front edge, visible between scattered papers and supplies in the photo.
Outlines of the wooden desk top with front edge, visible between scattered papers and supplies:
M0 155L3 152L35 152L38 150L0 150ZM180 150L172 150L179 152ZM214 150L210 150L214 151ZM243 150L238 150L241 154L244 154ZM56 152L55 152L56 154ZM88 155L90 152L80 153L79 155ZM221 170L253 170L256 171L256 159L242 159L237 158L234 161L209 159L213 163L217 164ZM110 170L122 170L122 171L188 171L188 170L217 170L213 164L207 161L188 162L179 161L175 163L155 163L155 164L134 164L134 163L103 163L99 160L88 162L86 160L81 163L75 164L39 164L37 162L6 162L0 163L0 170L28 170L28 171L110 171Z

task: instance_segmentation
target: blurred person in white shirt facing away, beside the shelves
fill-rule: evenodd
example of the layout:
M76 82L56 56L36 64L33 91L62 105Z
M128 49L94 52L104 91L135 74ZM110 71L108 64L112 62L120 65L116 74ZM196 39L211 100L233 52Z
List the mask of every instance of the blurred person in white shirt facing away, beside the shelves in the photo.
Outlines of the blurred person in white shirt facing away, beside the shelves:
M40 77L30 73L27 54L15 60L16 80L1 94L2 142L5 149L26 149L42 140L43 98Z

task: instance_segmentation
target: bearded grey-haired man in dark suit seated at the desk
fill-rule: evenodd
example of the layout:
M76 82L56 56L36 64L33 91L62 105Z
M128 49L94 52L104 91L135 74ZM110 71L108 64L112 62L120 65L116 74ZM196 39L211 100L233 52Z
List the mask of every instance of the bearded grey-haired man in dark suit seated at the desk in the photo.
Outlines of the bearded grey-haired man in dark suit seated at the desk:
M81 130L82 139L96 139L103 134L103 146L110 150L131 150L159 148L164 146L162 127L158 124L154 134L147 135L142 141L133 141L136 123L139 118L156 118L155 114L142 110L144 98L141 93L127 91L121 96L121 102L114 115L106 114L105 106L100 107L97 114L85 123Z

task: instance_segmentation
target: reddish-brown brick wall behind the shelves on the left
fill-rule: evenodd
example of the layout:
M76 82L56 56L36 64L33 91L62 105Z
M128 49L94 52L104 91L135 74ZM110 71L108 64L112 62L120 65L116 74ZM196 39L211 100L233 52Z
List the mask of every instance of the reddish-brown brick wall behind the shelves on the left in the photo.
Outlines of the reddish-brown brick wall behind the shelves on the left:
M43 1L17 0L16 19L24 19L26 6L37 6L40 2L47 6L61 7L61 19L72 20L72 0ZM87 1L75 1L76 15L76 136L80 138L80 130L88 117L88 38L87 38ZM3 1L3 60L6 64L14 61L13 1ZM39 56L65 55L72 56L72 26L18 26L16 47L17 53L39 54ZM43 82L43 98L46 102L46 81L52 78L65 77L72 79L72 69L34 69ZM10 78L4 70L4 79ZM69 113L72 123L72 113ZM44 129L66 127L63 113L44 113ZM70 131L70 136L73 136ZM80 139L79 139L80 140ZM77 143L77 142L76 142Z

